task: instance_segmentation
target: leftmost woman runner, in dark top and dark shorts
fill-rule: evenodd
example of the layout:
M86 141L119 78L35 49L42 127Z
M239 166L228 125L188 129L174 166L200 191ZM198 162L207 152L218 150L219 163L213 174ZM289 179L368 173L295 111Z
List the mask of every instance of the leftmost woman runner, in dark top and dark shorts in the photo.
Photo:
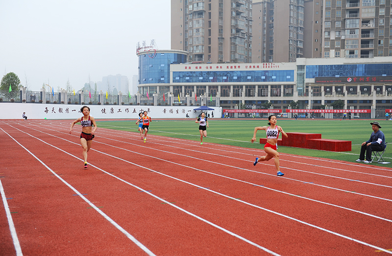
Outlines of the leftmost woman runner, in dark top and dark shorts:
M91 149L91 144L93 142L93 138L95 131L97 130L97 124L95 123L94 117L90 116L90 108L88 106L82 106L80 111L83 113L83 116L73 121L70 128L70 134L72 134L73 126L76 123L82 125L82 133L80 134L80 144L83 148L83 159L84 159L84 168L87 168L87 152ZM94 125L94 129L93 129Z

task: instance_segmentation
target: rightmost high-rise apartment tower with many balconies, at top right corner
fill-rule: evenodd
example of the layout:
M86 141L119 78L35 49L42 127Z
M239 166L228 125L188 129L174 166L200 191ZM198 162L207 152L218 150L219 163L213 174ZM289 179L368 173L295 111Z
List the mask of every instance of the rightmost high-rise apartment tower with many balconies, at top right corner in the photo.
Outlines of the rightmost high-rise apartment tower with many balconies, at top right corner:
M390 10L391 0L325 0L322 57L391 56Z

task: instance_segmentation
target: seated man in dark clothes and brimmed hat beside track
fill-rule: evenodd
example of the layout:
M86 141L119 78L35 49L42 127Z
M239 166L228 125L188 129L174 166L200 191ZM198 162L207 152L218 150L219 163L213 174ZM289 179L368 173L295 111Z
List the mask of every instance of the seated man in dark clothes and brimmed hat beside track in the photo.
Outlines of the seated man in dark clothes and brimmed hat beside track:
M378 122L370 123L373 132L370 135L370 139L362 143L361 154L357 162L371 163L371 153L373 151L383 151L385 148L385 136L380 130L381 126ZM366 152L366 160L365 160Z

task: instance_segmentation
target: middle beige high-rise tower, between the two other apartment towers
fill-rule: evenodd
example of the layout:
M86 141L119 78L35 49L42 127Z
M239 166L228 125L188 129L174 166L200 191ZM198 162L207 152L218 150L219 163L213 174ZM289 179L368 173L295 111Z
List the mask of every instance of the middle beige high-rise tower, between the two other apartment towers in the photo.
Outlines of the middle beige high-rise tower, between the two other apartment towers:
M304 0L253 0L253 19L253 61L293 62L305 57Z

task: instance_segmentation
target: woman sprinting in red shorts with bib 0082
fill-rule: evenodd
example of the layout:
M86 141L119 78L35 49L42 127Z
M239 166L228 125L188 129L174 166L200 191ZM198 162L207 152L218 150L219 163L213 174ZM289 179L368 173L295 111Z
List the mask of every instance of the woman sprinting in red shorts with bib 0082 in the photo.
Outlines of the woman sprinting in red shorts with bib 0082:
M282 134L286 138L288 136L280 126L276 125L277 118L275 115L270 115L268 117L268 121L270 121L270 123L268 123L269 126L259 126L254 128L253 138L250 140L250 142L252 143L256 140L256 133L258 130L265 130L267 132L267 143L264 146L264 151L267 153L267 155L256 157L256 161L253 163L253 165L256 165L258 162L261 161L268 161L272 157L274 157L277 175L283 176L284 174L281 173L279 170L279 153L276 150L278 148L277 143L278 143L279 132L282 132Z

